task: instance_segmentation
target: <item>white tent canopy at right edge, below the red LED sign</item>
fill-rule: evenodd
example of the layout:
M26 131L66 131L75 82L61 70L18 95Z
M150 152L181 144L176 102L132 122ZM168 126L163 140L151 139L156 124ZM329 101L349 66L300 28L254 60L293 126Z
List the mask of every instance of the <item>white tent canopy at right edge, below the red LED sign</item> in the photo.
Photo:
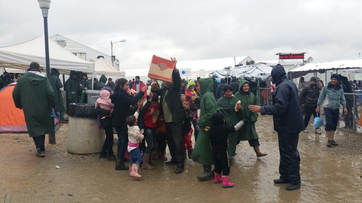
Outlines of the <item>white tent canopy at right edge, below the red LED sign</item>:
M344 59L335 61L325 61L318 63L309 63L299 68L290 70L293 78L299 78L308 73L325 73L326 70L341 70L341 69L359 69L362 68L362 58Z

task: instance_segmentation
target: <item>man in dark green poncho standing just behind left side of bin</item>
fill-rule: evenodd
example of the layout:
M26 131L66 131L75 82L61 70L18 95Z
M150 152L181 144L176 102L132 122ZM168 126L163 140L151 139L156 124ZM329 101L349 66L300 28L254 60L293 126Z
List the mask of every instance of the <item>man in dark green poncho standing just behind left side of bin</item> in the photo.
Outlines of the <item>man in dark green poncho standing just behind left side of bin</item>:
M79 83L77 81L77 73L70 71L69 78L65 81L65 92L66 92L66 107L69 109L70 103L78 103L78 96L80 95Z

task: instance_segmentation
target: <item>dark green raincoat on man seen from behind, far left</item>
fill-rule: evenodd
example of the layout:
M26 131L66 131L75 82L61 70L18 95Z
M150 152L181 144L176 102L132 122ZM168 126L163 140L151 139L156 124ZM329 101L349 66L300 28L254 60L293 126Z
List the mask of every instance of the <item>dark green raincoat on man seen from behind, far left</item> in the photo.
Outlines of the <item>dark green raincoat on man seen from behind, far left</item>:
M55 93L49 80L28 72L18 81L13 90L17 108L24 111L25 122L30 137L49 133L51 108L56 107Z

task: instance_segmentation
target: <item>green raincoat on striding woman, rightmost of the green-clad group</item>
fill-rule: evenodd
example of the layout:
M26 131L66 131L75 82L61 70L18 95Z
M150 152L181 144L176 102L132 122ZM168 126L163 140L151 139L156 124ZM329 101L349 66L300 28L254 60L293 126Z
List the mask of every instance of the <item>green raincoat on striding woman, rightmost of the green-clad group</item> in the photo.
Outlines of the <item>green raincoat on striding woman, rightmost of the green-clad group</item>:
M257 100L252 92L249 91L249 95L246 95L241 91L241 87L245 83L249 82L246 80L240 81L239 91L235 94L235 97L241 101L241 109L239 111L242 111L241 114L244 120L244 125L239 129L239 142L242 140L259 139L255 130L255 122L257 121L258 114L251 112L248 108L249 105L257 105Z

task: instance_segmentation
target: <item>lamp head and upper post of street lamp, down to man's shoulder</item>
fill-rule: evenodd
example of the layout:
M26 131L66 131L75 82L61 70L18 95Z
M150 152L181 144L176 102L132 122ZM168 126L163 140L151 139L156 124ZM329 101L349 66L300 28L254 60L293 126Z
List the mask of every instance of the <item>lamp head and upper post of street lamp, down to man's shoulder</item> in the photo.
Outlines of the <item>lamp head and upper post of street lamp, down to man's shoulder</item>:
M38 0L39 7L42 10L44 18L44 39L45 39L45 64L47 77L50 82L50 63L49 63L49 39L48 39L48 11L50 8L50 0Z

